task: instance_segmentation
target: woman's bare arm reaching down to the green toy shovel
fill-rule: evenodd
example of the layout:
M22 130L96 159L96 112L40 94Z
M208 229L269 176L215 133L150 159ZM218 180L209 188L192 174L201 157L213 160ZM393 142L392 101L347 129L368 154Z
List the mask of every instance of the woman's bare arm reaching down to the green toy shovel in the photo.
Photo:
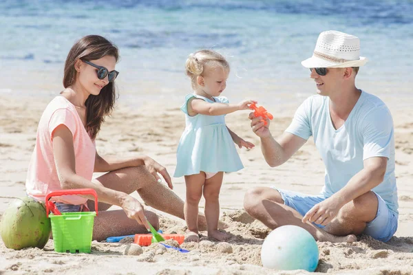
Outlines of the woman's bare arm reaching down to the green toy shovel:
M56 171L62 189L92 188L96 190L99 201L120 206L125 210L129 218L136 219L138 223L149 228L143 207L134 197L127 195L125 192L119 192L106 188L101 184L95 184L84 177L76 175L73 135L67 126L61 124L56 127L53 133L52 146ZM85 195L84 197L94 199L92 196Z

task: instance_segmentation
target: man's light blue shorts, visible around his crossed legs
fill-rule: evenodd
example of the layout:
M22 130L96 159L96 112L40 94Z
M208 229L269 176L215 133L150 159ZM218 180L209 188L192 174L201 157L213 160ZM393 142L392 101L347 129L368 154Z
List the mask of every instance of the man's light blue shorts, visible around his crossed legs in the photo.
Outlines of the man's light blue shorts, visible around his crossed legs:
M284 204L286 206L290 206L299 212L303 217L310 210L315 206L317 203L324 201L327 199L323 195L306 195L300 192L284 190L273 187L275 190L281 194L282 199L284 199ZM377 196L379 201L379 208L377 210L376 217L367 223L366 229L363 231L363 234L367 234L372 236L374 239L379 241L389 241L394 233L397 230L397 219L398 214L394 211L390 210L385 201L378 195ZM319 228L324 228L324 225L319 225L317 223L313 223Z

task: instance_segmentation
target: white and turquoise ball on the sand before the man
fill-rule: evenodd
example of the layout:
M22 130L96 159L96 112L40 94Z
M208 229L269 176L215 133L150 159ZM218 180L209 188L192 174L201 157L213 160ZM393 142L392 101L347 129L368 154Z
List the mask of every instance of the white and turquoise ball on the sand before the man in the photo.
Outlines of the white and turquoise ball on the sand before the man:
M317 242L304 228L284 225L266 237L261 248L262 265L275 270L313 272L319 261Z

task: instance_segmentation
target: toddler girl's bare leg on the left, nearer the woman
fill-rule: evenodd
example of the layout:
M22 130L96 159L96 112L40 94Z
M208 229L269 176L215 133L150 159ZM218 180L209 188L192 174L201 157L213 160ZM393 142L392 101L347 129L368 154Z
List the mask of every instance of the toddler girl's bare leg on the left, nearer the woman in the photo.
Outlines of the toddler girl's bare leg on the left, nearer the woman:
M205 174L185 176L187 185L187 198L184 204L185 221L188 226L188 233L185 241L200 241L198 236L198 205L202 197L202 186L205 183Z

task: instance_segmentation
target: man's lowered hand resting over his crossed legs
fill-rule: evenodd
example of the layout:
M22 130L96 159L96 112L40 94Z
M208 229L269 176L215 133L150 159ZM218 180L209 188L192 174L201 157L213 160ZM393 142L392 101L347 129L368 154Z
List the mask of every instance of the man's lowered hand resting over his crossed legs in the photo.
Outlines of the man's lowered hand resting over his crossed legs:
M337 216L342 207L343 205L340 201L330 197L313 206L303 217L302 222L310 221L319 225L328 225Z

